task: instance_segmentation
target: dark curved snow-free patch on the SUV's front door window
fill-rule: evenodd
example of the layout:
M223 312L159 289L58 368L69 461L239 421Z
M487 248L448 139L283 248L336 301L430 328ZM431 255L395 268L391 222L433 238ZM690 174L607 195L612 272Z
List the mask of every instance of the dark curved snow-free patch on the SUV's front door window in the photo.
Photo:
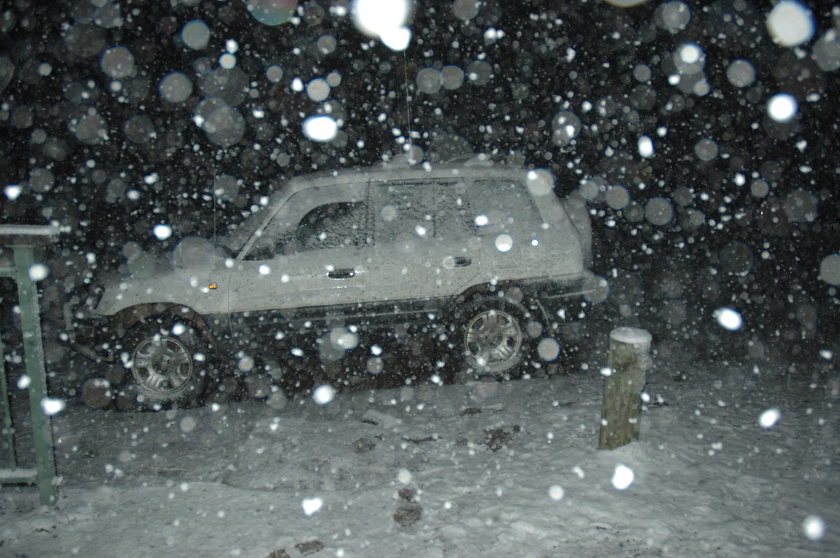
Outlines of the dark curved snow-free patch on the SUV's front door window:
M365 203L339 201L318 206L297 223L294 242L302 250L365 244Z

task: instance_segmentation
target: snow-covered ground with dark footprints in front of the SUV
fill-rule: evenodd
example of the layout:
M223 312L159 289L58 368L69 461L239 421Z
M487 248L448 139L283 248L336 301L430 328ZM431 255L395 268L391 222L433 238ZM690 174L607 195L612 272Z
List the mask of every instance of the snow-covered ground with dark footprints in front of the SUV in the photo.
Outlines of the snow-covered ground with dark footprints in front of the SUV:
M660 365L641 440L616 451L596 451L597 371L279 411L71 404L60 504L0 489L0 554L836 556L840 403L808 378Z

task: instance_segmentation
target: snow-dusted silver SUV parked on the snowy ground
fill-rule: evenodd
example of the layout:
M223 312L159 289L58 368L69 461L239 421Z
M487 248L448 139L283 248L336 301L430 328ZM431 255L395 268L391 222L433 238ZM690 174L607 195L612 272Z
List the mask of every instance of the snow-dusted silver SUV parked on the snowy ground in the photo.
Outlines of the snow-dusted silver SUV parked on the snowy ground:
M228 236L186 238L164 263L134 254L66 321L74 347L114 363L112 386L152 404L196 397L226 368L376 355L412 329L442 368L509 377L558 356L552 319L590 263L585 206L547 171L383 164L290 180Z

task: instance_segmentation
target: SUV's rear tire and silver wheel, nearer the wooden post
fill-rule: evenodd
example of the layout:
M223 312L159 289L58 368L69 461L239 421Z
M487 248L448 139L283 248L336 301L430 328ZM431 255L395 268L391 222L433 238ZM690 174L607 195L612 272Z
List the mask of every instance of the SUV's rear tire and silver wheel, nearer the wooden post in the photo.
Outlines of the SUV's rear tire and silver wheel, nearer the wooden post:
M461 371L518 377L533 354L536 322L522 304L493 294L474 295L454 310L449 330ZM541 327L538 329L542 329Z

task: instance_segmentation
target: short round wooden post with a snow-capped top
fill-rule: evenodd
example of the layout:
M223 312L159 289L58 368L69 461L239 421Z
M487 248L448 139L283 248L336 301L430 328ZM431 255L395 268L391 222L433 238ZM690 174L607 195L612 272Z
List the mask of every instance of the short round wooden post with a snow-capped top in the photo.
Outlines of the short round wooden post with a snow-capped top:
M648 331L617 327L610 333L610 374L604 382L599 450L614 450L638 440L644 377L651 366Z

